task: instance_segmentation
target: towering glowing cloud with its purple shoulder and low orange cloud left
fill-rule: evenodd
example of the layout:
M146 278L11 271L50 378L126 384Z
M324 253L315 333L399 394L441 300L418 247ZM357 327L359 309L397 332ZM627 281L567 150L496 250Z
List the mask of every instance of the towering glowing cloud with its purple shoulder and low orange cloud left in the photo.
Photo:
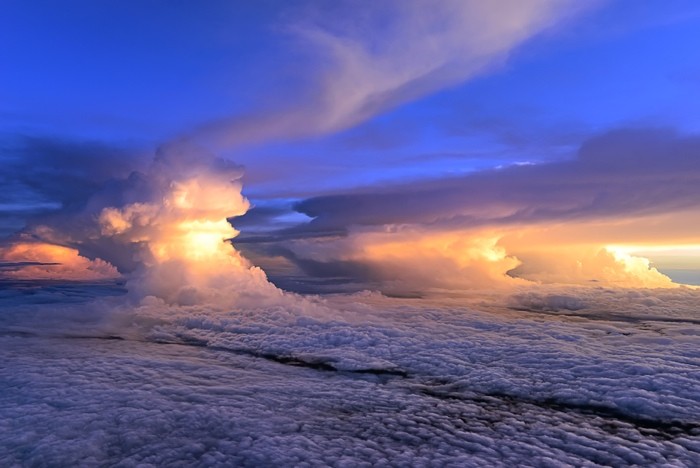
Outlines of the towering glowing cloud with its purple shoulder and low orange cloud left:
M91 265L102 268L109 262L120 268L137 300L155 296L168 303L235 303L255 294L274 300L281 292L229 242L238 232L226 218L249 207L241 194L241 175L239 166L199 148L163 146L146 171L113 178L79 210L63 210L32 224L19 238L34 242L9 244L6 259L62 263L51 271L77 279L84 275L72 267L97 269L80 263L90 262L78 256L80 251L94 258ZM58 254L60 261L54 258ZM13 274L39 269L27 265ZM118 275L111 265L109 273Z

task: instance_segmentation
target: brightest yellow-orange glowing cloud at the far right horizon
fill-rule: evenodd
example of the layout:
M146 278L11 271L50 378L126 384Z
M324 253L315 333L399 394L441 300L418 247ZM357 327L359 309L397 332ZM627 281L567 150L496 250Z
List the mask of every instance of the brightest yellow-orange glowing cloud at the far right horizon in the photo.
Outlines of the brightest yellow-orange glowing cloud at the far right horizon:
M515 273L533 281L675 287L655 267L663 252L682 252L683 266L700 269L700 249L685 244L693 233L683 219L685 213L533 224L510 229L500 242L523 262Z

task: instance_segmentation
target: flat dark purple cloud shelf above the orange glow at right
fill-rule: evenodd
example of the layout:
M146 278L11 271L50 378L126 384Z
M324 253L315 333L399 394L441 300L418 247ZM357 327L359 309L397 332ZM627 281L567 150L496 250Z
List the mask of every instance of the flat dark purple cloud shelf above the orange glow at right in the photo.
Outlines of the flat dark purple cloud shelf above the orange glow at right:
M700 138L628 129L584 143L574 160L510 166L296 205L306 228L395 223L518 223L653 214L700 199Z

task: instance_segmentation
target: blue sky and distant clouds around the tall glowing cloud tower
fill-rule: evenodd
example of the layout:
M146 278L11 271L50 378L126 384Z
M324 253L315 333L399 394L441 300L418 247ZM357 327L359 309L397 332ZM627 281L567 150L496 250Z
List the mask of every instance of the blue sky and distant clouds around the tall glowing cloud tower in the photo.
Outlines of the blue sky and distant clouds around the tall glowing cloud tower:
M700 8L501 3L3 2L3 269L130 274L105 213L215 155L285 288L699 284Z

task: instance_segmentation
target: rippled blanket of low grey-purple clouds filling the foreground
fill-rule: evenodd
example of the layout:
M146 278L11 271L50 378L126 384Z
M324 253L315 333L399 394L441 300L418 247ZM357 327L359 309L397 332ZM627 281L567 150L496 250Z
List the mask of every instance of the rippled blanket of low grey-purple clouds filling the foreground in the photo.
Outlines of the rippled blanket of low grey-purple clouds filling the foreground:
M51 304L0 297L6 465L700 457L697 291L365 293L227 310L81 305L44 289Z

